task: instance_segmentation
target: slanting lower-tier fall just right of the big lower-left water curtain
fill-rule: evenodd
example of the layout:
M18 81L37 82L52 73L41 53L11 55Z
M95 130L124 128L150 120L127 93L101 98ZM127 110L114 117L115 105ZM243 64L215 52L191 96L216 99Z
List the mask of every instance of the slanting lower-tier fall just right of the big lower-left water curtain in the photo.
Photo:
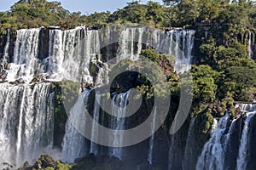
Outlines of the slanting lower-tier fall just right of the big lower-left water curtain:
M88 104L89 95L90 90L85 89L84 93L79 95L79 98L70 111L70 118L67 120L66 133L62 142L61 160L64 162L71 163L76 158L85 156L87 153L86 140L75 127L79 127L79 129L84 129L85 131L86 118L84 116L84 109ZM70 121L71 118L74 120L73 122Z

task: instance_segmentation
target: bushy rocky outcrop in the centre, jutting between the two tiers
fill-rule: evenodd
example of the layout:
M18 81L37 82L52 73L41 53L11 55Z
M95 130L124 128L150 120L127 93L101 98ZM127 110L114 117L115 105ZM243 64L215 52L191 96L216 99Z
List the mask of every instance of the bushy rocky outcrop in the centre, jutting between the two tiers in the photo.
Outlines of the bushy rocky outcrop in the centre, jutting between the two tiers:
M137 88L147 96L147 99L154 95L165 98L171 92L175 94L179 88L179 83L177 82L176 73L173 72L172 58L169 59L169 56L157 54L154 49L143 49L140 56L137 61L121 59L117 65L113 66L108 73L110 79L114 77L113 81L110 80L113 83L113 88L117 84L119 84L120 92L125 92L129 88ZM143 72L143 74L131 71ZM119 72L122 72L122 74L116 77ZM130 80L127 77L136 78ZM170 85L171 92L170 89L163 88L164 83L166 83L166 87L168 84Z

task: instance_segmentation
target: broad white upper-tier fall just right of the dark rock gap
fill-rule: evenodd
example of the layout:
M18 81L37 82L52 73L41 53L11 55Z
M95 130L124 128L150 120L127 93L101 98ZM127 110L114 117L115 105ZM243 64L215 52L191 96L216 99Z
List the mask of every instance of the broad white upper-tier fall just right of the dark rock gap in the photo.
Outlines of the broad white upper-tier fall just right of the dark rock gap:
M49 31L49 75L54 79L66 78L78 81L84 76L90 77L90 58L100 54L98 31L88 31L79 26L73 30ZM86 31L87 32L87 31ZM87 78L84 78L86 80Z

